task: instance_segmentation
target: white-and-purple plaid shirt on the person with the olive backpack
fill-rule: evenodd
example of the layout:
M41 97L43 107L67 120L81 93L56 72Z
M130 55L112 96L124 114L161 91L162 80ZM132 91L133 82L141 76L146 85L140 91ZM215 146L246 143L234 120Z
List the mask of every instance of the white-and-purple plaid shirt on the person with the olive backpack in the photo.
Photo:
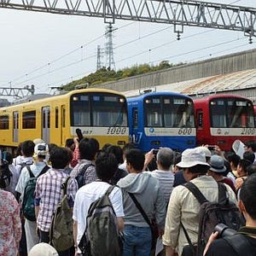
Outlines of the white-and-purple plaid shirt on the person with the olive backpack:
M52 215L61 201L61 184L65 182L67 177L66 172L55 169L49 169L48 172L38 177L35 189L35 205L39 206L37 218L39 230L49 231ZM78 183L72 178L67 186L67 195L69 195L71 207L73 207L77 190Z

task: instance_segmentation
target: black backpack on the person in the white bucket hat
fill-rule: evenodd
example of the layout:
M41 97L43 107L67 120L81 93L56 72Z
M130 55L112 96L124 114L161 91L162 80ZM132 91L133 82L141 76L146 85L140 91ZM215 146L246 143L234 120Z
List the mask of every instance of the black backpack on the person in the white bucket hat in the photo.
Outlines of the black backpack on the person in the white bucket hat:
M195 195L195 198L201 203L201 209L199 212L199 230L196 247L192 247L192 243L189 239L187 230L185 230L183 224L183 231L187 240L189 241L189 247L192 255L202 256L204 249L207 245L207 241L217 224L225 224L232 230L239 230L241 225L244 224L244 219L241 216L236 204L229 201L226 195L226 187L223 183L218 183L218 202L207 201L201 191L195 186L194 183L183 184L184 187ZM185 248L185 249L188 249Z

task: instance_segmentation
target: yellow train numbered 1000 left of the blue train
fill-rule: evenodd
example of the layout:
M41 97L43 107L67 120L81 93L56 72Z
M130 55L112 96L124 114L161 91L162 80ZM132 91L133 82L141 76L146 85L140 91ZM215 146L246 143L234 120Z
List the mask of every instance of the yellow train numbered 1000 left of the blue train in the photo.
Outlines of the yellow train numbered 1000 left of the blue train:
M0 108L0 146L4 149L37 137L64 146L78 128L84 137L95 137L101 148L105 143L127 143L125 96L113 90L81 89Z

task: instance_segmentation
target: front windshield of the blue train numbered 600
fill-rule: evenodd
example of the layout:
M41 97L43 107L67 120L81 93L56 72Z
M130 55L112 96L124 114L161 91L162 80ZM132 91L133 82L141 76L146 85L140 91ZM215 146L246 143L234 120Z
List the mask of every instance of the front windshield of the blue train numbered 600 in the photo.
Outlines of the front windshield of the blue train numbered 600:
M191 99L177 96L150 96L144 99L145 126L195 127Z

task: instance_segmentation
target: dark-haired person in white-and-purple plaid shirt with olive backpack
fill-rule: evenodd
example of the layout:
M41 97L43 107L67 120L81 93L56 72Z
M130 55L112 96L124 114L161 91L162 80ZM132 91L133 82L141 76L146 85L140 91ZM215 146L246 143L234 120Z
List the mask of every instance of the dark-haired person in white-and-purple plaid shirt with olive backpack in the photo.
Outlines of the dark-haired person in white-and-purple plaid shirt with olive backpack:
M69 160L67 148L55 147L49 152L49 159L52 168L38 177L35 189L35 212L40 242L49 242L51 218L62 199L61 185L68 177L67 173L64 171ZM73 207L77 190L78 183L74 178L71 178L67 184L69 207ZM69 255L69 251L62 252L60 255Z

